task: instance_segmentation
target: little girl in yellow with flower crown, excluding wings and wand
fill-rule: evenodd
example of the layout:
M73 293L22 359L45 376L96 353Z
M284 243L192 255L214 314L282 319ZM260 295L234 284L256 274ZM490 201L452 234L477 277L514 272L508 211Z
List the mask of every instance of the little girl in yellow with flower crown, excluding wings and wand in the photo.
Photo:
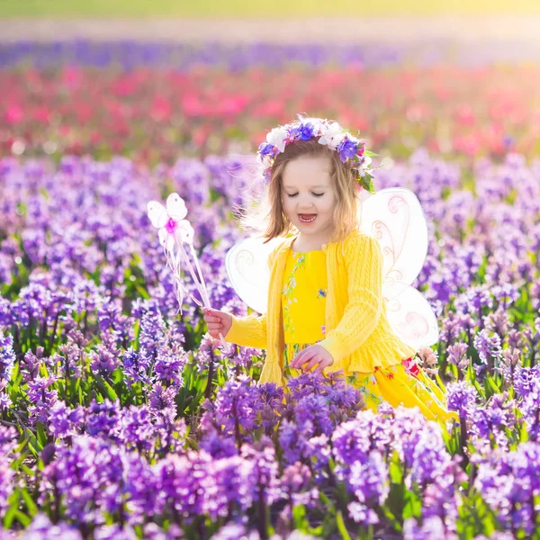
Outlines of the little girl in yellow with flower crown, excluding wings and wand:
M267 312L205 310L204 320L212 338L266 348L261 383L340 371L372 410L387 401L418 406L427 419L455 418L387 320L382 249L357 222L357 191L371 177L366 154L337 122L299 117L268 134L258 150L265 237L283 239L269 257Z

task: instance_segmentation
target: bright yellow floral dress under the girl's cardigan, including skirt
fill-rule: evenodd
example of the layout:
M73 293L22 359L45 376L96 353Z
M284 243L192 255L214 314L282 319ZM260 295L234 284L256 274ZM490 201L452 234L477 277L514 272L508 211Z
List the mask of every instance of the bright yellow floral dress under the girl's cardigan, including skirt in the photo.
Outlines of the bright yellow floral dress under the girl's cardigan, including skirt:
M298 253L289 249L282 288L284 324L284 378L302 374L290 363L303 348L325 338L327 295L326 254L322 250ZM446 410L445 393L426 376L414 358L373 373L348 372L347 383L360 389L367 408L376 411L387 401L392 407L418 406L427 419L456 418Z

